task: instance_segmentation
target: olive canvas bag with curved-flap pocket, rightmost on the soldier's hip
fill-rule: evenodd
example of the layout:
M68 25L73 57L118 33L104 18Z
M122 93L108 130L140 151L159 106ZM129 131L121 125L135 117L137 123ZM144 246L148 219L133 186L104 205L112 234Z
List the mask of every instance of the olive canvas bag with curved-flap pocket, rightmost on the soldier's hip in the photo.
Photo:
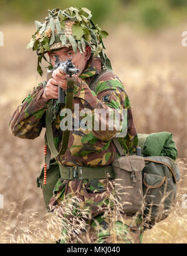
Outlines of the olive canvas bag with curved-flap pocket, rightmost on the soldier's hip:
M176 204L177 182L180 180L178 165L170 157L144 157L143 184L143 227L166 219Z

